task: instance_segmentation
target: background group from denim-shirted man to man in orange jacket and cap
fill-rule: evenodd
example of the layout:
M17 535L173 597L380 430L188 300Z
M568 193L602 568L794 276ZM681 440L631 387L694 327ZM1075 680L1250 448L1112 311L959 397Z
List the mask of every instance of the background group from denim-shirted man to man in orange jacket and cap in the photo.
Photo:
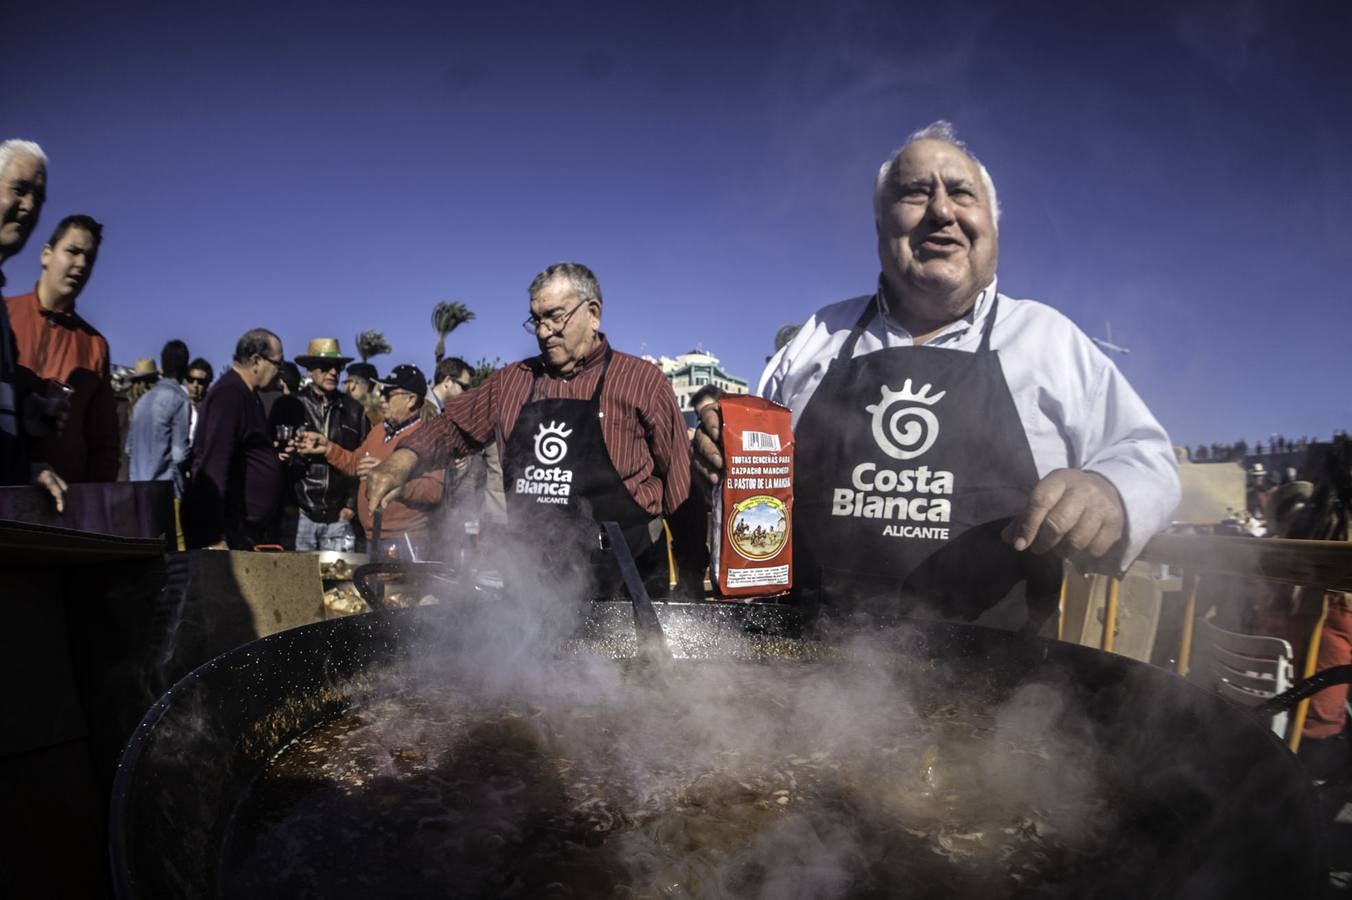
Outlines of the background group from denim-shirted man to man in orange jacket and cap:
M287 361L280 338L254 328L218 381L169 341L157 368L132 376L149 388L128 403L128 477L173 484L185 547L366 550L362 477L472 376L458 357L441 359L431 384L414 365L380 376L337 338ZM433 539L462 541L479 520L483 472L465 464L429 476L391 504L387 535L418 555Z

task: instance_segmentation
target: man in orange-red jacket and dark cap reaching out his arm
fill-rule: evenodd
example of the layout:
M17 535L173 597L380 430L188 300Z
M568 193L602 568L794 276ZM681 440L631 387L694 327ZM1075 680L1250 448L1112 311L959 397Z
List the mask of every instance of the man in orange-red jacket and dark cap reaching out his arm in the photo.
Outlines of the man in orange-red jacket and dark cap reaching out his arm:
M296 438L296 449L307 455L323 454L333 468L361 478L357 489L357 515L361 527L372 534L370 504L366 500L366 473L392 454L410 435L422 428L422 405L427 397L427 378L418 366L395 366L381 382L380 409L384 422L370 430L366 441L356 450L345 450L326 435L301 431ZM372 549L372 557L399 555L406 543L412 546L418 558L427 554L427 532L431 524L430 514L441 505L445 486L445 469L434 469L410 480L397 500L384 509L380 523L380 547Z

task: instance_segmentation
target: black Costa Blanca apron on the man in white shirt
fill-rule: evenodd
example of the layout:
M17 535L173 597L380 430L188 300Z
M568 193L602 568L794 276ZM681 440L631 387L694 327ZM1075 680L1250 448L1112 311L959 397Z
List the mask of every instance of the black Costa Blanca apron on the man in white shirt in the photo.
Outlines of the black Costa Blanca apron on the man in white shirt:
M853 358L877 303L794 430L796 593L883 620L1036 627L1056 609L1061 565L1000 541L1038 476L990 346L999 299L976 353L910 346Z

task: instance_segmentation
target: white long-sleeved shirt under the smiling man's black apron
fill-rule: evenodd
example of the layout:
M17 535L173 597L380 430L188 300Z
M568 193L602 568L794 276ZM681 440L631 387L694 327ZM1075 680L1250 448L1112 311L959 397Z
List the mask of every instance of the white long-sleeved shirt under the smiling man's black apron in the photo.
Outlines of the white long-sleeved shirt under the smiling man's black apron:
M967 316L925 346L976 351L994 296L992 281ZM1169 524L1178 507L1178 461L1169 436L1113 361L1075 323L1036 300L999 297L991 349L999 354L1037 474L1042 478L1053 469L1084 469L1113 482L1126 508L1125 551L1115 561L1125 569L1145 542ZM792 409L795 427L869 303L879 304L879 312L854 345L856 357L913 345L910 332L887 315L882 293L818 309L771 358L756 391ZM876 401L876 391L865 393L861 404Z

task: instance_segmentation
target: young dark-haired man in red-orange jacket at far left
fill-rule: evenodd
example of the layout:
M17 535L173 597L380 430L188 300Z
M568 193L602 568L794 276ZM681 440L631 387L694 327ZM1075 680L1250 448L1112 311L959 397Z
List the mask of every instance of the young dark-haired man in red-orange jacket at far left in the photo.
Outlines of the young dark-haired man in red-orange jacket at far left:
M35 447L37 459L68 482L116 481L120 462L108 342L76 312L101 242L101 224L85 215L66 216L42 247L37 286L5 301L19 365L72 389L65 428Z

